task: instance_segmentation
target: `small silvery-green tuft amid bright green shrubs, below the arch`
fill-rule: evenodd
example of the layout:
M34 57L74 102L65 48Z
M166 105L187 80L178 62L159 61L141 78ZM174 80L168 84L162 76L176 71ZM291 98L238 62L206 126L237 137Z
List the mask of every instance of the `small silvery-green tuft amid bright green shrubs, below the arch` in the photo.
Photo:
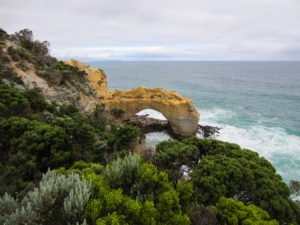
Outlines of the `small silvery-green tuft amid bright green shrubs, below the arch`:
M140 172L140 160L139 155L129 154L122 158L117 158L112 162L111 166L107 166L105 169L105 175L112 188L123 188L130 190L131 185L135 182Z

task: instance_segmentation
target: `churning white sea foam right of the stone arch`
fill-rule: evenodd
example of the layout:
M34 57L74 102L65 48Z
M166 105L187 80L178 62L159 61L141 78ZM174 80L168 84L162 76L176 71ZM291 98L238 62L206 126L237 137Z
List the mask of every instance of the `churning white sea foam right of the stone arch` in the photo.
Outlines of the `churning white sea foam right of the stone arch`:
M239 144L242 148L254 150L270 160L277 172L288 182L300 180L300 137L290 135L280 127L266 127L259 123L247 128L228 125L224 122L235 113L223 109L200 111L203 125L218 126L222 129L218 140Z

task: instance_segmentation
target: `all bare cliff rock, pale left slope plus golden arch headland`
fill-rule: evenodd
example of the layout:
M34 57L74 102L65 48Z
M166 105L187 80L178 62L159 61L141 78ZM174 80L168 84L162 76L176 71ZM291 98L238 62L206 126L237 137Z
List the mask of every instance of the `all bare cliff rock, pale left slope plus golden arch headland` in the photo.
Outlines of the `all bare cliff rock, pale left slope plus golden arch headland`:
M182 97L175 91L161 88L139 87L128 91L108 92L106 74L102 70L91 68L77 60L71 59L64 62L85 71L87 91L80 91L72 85L64 87L49 85L47 80L35 73L34 65L30 63L27 64L30 69L26 72L17 68L15 64L11 66L27 87L40 89L48 99L75 104L85 114L91 114L95 105L101 103L104 103L108 110L113 108L124 110L122 120L128 120L143 109L154 109L167 118L176 136L184 138L196 133L199 113L191 99Z

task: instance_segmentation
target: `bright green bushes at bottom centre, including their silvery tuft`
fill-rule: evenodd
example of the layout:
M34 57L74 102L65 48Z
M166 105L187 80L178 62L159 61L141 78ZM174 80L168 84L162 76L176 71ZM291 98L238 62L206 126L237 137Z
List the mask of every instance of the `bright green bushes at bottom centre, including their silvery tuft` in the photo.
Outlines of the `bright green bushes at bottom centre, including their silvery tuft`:
M188 202L191 187L182 184L176 190L165 173L157 173L138 155L117 159L105 170L80 162L70 172L92 181L94 194L84 213L89 224L190 224L180 196Z

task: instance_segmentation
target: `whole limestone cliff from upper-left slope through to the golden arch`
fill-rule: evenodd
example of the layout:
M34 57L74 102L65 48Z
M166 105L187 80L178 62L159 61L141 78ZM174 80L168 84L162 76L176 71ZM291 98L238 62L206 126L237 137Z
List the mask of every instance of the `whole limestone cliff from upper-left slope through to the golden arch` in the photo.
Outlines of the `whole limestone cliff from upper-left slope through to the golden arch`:
M45 53L34 55L13 39L1 44L0 53L2 57L8 56L9 61L4 66L14 71L27 87L39 89L49 100L75 104L84 114L91 114L96 104L104 103L108 111L124 110L123 120L143 109L155 109L167 118L178 137L196 133L199 113L191 99L174 91L139 87L108 92L106 74L100 69L72 59L57 61Z

